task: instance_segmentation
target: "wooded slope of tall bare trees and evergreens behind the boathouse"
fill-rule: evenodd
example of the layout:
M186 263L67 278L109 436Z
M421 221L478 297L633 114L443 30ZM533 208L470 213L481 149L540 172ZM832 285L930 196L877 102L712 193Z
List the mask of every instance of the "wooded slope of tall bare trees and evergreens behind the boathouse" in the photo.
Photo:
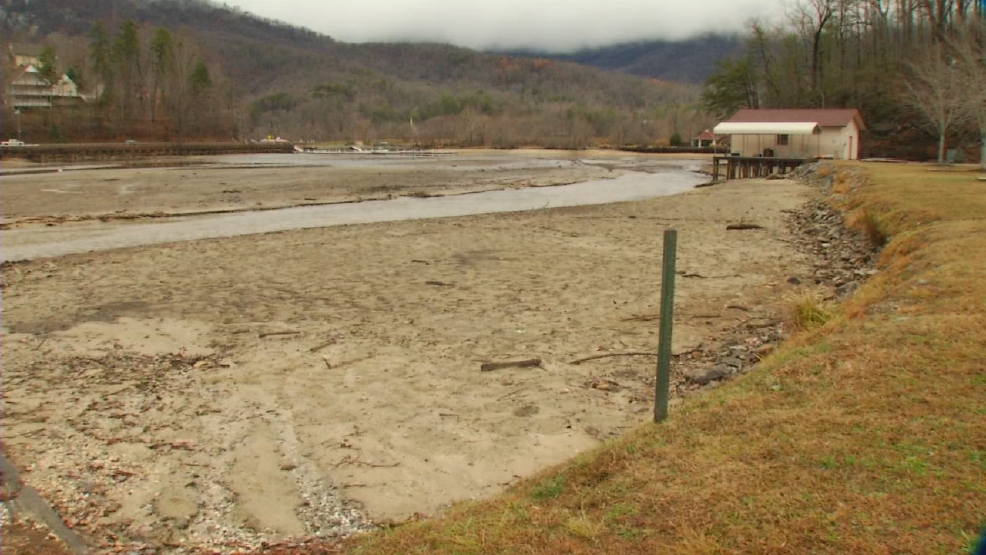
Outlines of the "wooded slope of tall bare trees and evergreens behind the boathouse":
M986 1L799 0L749 28L703 94L739 108L858 107L865 154L925 159L986 144Z

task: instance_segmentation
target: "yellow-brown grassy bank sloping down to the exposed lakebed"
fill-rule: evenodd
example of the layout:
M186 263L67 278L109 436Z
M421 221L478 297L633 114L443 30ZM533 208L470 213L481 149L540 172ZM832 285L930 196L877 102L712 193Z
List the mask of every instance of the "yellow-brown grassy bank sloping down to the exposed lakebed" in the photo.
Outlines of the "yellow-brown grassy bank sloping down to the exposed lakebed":
M986 524L986 184L837 180L882 272L759 370L354 553L962 553ZM844 170L843 170L844 171Z

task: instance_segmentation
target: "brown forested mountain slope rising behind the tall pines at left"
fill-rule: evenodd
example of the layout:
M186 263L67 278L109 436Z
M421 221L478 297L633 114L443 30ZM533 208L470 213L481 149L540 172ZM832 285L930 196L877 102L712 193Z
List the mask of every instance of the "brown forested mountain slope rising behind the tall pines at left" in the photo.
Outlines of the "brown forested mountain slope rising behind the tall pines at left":
M694 107L696 85L604 72L578 65L574 56L548 60L443 44L347 44L205 0L0 0L0 40L60 45L59 62L90 80L96 76L87 34L97 21L113 34L127 20L140 27L139 68L151 65L155 28L194 37L199 56L226 91L219 108L230 118L239 114L241 135L581 146L651 143L708 124ZM604 52L596 53L600 67ZM608 59L622 69L617 61L644 67L649 58L641 51ZM146 79L143 85L140 79ZM138 94L153 86L150 72L137 80L128 86ZM153 105L144 101L139 108L147 110L148 121Z

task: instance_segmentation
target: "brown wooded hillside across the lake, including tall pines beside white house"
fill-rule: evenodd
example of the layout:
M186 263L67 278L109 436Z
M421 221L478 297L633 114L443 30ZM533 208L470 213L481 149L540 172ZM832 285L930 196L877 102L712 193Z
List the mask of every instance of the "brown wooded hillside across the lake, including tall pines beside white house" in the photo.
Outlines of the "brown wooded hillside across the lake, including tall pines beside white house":
M52 140L271 134L579 147L687 138L711 123L695 85L448 45L346 44L200 0L3 0L0 29L5 42L54 47L59 71L109 93L86 117L51 115Z

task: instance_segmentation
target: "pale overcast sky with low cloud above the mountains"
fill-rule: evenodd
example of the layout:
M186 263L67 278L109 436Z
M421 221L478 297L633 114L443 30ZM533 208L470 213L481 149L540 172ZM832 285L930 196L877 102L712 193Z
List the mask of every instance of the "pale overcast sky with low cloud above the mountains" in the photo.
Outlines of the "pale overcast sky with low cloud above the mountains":
M218 0L345 42L574 50L740 29L784 0Z

